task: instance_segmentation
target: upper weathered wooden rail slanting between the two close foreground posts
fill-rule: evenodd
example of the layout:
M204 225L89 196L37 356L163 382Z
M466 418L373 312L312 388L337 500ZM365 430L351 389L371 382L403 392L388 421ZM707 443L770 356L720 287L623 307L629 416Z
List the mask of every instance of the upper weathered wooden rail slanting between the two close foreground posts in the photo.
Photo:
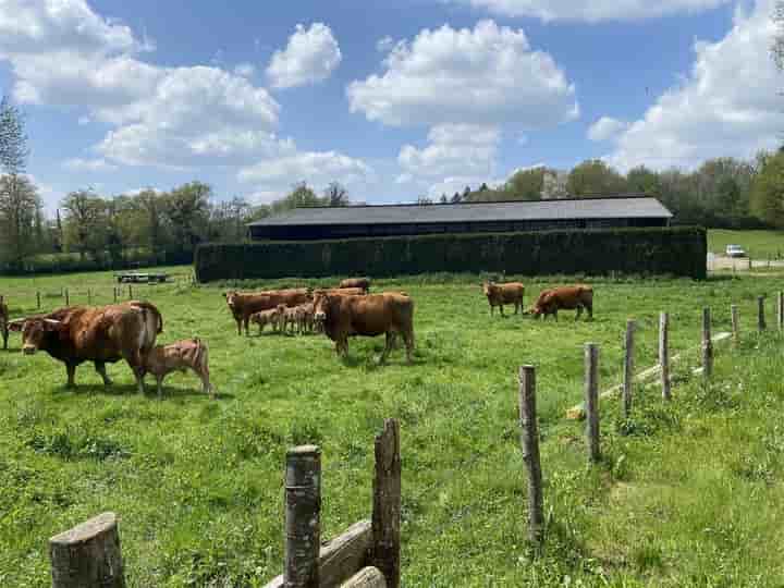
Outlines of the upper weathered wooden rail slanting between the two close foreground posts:
M319 552L319 583L322 588L340 586L362 569L368 561L372 542L370 520L359 520L345 532L321 546ZM283 588L280 575L267 584L266 588Z

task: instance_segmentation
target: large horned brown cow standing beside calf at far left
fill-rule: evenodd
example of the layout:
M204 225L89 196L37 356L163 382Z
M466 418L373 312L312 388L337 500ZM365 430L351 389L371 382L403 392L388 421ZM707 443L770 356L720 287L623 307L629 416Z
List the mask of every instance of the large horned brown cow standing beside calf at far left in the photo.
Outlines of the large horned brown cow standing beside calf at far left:
M71 306L48 315L10 322L22 332L22 351L38 350L65 364L68 387L74 387L76 367L93 362L106 385L111 380L106 364L125 359L144 392L144 358L163 328L163 319L150 303L130 302L109 306Z

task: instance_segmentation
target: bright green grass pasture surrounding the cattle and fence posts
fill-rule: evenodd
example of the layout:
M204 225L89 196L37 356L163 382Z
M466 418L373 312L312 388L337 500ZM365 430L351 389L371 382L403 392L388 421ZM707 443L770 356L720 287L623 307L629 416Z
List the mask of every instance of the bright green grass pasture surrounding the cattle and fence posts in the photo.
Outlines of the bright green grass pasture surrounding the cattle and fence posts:
M188 268L174 268L185 274ZM750 335L758 294L780 281L722 278L592 281L596 320L491 318L477 277L389 280L416 301L415 363L389 365L377 340L339 360L323 336L237 336L218 286L135 286L162 310L159 342L210 344L210 402L193 376L171 376L159 402L135 393L125 365L105 389L91 366L77 389L45 354L0 352L0 585L49 585L46 540L114 511L128 585L262 586L282 565L285 449L323 451L322 537L370 511L372 439L401 420L405 586L781 586L784 407L781 339ZM564 279L526 281L530 301ZM571 280L569 280L571 281ZM292 282L293 283L293 282ZM316 284L317 282L308 282ZM13 316L111 301L108 273L0 279ZM261 284L254 284L261 285ZM283 285L283 282L265 284ZM703 390L676 370L675 402L654 389L630 421L603 405L604 462L586 465L583 426L565 421L583 383L583 344L601 345L602 388L620 380L625 321L637 362L656 363L658 313L671 313L673 353L699 342L700 309L728 329L731 303L749 333L720 353ZM769 305L772 309L772 304ZM772 316L770 322L773 322ZM725 352L726 350L721 350ZM526 548L517 367L537 366L547 548Z

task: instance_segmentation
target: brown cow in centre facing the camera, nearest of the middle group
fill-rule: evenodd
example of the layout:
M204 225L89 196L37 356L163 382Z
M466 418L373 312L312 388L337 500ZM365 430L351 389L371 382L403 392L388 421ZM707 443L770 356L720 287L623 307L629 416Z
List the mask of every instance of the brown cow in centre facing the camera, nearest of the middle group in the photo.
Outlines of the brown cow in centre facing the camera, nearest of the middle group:
M320 293L314 298L315 319L324 333L335 342L338 354L348 354L348 338L353 335L387 335L380 362L394 347L397 333L403 336L406 358L412 362L414 351L414 301L399 293L367 296L335 296Z

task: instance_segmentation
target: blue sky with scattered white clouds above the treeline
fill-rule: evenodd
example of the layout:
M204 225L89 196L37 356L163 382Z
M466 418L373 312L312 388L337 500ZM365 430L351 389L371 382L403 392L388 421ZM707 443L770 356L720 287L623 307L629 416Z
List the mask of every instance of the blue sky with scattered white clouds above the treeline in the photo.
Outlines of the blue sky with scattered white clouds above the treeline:
M0 93L70 191L413 201L782 143L774 0L0 0Z

